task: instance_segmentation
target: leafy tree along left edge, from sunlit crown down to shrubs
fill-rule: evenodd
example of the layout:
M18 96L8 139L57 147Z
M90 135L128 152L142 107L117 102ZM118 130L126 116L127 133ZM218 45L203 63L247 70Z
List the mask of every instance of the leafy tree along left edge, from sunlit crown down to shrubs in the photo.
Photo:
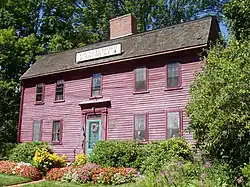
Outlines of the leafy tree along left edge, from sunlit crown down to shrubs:
M15 142L19 110L19 77L42 48L34 35L19 37L14 29L0 29L0 142ZM0 147L1 149L1 147Z

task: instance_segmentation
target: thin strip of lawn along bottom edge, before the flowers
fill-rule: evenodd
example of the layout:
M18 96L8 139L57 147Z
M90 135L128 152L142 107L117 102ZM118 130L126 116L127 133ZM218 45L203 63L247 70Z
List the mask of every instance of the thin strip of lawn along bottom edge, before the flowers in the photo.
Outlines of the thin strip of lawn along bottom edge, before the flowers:
M27 184L24 185L25 187L108 187L108 185L93 185L93 184L74 184L74 183L63 183L63 182L57 182L57 181L44 181L36 184ZM136 187L136 184L123 184L119 185L117 187ZM109 186L110 187L110 186Z

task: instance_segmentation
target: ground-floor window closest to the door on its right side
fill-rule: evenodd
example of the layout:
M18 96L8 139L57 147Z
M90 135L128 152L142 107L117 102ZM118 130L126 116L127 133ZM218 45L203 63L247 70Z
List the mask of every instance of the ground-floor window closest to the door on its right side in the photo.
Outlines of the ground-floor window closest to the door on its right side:
M148 139L146 114L134 116L134 138L139 141L146 141Z

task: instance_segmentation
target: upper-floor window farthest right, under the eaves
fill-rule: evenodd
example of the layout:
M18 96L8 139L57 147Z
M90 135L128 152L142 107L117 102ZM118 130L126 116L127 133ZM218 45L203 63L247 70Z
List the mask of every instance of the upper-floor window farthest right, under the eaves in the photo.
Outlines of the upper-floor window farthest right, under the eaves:
M170 63L167 65L167 87L175 88L179 87L180 82L180 70L179 63Z

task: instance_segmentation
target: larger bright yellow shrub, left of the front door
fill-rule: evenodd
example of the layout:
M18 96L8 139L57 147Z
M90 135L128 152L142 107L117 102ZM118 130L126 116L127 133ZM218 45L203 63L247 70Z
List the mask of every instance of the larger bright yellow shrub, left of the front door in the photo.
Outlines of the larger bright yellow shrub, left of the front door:
M46 148L37 149L33 158L34 165L45 174L51 168L60 168L66 165L66 156L58 156L56 153L50 153Z

